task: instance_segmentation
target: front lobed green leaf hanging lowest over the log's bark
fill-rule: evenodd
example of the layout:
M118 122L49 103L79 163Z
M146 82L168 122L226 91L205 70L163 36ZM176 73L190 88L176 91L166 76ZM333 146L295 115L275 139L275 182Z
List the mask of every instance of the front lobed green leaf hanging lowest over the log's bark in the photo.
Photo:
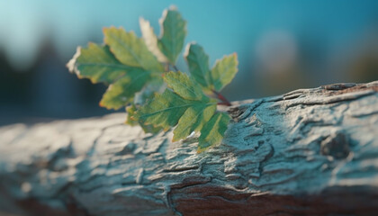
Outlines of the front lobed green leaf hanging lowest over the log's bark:
M166 73L164 80L173 91L166 89L163 94L157 94L139 109L136 119L165 130L176 126L173 141L201 131L199 149L219 143L229 116L215 113L216 101L202 94L201 87L184 73Z

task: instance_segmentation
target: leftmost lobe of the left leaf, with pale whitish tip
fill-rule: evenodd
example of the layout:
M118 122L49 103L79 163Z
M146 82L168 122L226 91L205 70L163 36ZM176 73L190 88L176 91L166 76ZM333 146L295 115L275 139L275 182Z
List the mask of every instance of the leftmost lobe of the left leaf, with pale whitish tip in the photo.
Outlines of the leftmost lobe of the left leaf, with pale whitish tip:
M125 75L131 67L121 64L107 46L89 43L87 48L78 47L67 67L79 78L89 78L92 83L112 83Z

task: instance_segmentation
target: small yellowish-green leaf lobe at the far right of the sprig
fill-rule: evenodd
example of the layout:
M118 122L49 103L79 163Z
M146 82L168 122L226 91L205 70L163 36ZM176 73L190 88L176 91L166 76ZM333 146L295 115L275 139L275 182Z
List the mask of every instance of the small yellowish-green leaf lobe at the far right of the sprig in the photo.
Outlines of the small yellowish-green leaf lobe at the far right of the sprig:
M225 56L215 62L211 69L213 86L216 91L220 91L224 86L229 85L238 72L237 54Z

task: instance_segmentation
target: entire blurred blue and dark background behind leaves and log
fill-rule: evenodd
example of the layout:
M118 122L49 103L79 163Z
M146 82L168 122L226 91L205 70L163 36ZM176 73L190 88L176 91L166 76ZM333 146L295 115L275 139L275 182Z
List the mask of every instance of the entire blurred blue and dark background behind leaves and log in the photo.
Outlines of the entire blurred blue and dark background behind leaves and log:
M103 27L140 35L139 16L158 34L171 4L211 66L238 53L223 91L232 101L378 79L376 0L0 0L0 125L113 112L98 106L105 86L69 74L67 61L76 46L101 43Z

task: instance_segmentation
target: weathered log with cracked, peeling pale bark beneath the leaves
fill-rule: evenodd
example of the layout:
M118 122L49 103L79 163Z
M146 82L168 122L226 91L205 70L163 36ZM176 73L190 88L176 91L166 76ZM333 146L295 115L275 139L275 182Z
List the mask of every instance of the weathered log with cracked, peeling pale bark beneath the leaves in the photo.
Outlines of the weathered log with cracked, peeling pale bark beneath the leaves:
M31 215L378 211L378 82L234 103L220 146L125 114L0 129L0 210ZM1 211L0 211L1 212Z

